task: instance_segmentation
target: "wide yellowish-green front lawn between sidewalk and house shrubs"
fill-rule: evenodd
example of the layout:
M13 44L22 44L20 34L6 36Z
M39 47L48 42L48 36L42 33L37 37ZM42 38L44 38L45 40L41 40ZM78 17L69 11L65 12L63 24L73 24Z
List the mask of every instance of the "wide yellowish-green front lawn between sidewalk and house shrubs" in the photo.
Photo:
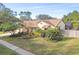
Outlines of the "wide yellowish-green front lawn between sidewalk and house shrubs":
M5 37L6 40L35 54L76 55L79 54L79 39L65 38L56 42L44 38L20 39L19 37Z

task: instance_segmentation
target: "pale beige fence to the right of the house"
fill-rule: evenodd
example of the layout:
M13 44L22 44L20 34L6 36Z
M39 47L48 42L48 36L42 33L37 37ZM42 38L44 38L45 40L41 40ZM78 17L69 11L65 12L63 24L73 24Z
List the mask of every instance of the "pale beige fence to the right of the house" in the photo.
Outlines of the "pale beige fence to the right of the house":
M64 30L64 37L75 37L79 38L79 30Z

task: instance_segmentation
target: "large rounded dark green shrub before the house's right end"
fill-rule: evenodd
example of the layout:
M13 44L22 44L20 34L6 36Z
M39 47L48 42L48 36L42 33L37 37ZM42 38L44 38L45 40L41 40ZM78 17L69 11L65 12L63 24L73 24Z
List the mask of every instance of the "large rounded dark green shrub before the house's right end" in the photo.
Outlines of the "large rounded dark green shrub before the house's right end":
M62 40L63 39L63 35L61 33L61 31L59 29L48 29L46 31L46 36L47 38L49 38L50 40Z

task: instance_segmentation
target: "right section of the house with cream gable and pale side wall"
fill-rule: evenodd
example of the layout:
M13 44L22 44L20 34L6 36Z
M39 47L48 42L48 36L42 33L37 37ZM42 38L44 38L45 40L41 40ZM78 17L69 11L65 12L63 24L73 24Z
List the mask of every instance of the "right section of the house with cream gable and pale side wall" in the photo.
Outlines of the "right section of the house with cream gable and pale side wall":
M49 19L49 20L40 21L38 23L38 27L41 28L42 30L47 29L49 27L59 28L61 30L64 30L65 24L60 19Z

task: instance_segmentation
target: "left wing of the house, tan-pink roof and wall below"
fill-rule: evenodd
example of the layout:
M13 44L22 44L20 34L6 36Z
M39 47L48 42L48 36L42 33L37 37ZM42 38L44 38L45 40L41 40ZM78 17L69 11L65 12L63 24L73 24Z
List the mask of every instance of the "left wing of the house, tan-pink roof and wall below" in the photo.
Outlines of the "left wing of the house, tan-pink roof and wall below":
M28 31L31 32L33 30L35 30L36 28L38 28L37 26L38 24L38 21L35 21L35 20L25 20L25 21L22 21L22 25L25 27L24 28L24 31Z

